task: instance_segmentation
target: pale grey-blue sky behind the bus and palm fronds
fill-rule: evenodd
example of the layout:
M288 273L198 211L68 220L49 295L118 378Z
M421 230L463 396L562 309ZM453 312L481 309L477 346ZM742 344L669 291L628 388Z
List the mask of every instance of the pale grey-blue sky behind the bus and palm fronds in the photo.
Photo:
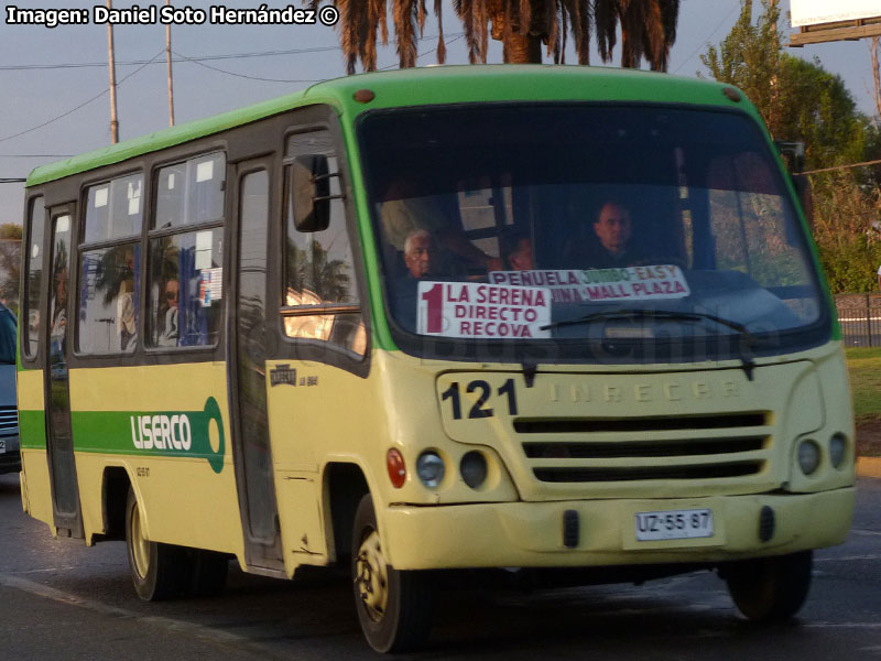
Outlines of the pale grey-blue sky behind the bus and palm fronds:
M216 2L173 0L172 6L207 10ZM300 0L290 2L301 7ZM461 24L450 0L444 3L447 64L467 64ZM91 10L106 2L20 0L14 4ZM164 2L113 2L117 9L135 4L142 9L156 7L159 12ZM279 8L287 2L269 4ZM433 2L426 4L431 13ZM783 0L784 15L788 4ZM226 2L227 8L259 6L257 1ZM9 24L8 7L4 4L0 17L0 178L25 177L37 165L110 143L107 26ZM739 0L682 0L668 73L706 75L700 54L706 53L708 44L718 44L727 36L739 10ZM784 25L788 29L788 19ZM180 59L173 65L176 123L289 94L346 73L338 32L322 24L219 25L206 21L174 25L171 32L172 50ZM437 25L431 17L424 34L418 46L420 66L436 62ZM117 25L113 40L120 140L168 126L165 26ZM393 42L379 53L380 68L396 67ZM809 45L790 53L806 59L818 57L827 71L844 78L862 112L875 113L868 40ZM577 62L573 53L566 59ZM488 62L501 62L501 46L491 40ZM619 66L619 62L620 48L616 48L608 66ZM603 65L596 48L590 63ZM20 224L23 199L22 184L0 183L0 223Z

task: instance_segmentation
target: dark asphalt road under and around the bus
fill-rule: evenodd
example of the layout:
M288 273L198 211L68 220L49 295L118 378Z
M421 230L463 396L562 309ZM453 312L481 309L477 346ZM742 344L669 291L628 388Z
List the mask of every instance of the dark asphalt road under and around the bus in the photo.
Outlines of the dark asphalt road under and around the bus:
M221 597L160 604L131 587L124 544L53 540L0 476L0 658L376 659L348 581L230 572ZM421 659L881 659L881 480L861 479L847 542L816 555L795 622L742 619L703 572L646 583L525 593L452 581Z

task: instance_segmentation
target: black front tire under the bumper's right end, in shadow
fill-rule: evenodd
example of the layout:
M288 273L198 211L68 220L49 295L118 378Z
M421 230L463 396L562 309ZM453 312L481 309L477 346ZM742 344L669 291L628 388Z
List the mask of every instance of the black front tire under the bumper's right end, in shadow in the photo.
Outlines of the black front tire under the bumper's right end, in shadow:
M791 555L731 563L725 567L738 610L760 622L783 622L798 613L811 588L814 555L802 551Z

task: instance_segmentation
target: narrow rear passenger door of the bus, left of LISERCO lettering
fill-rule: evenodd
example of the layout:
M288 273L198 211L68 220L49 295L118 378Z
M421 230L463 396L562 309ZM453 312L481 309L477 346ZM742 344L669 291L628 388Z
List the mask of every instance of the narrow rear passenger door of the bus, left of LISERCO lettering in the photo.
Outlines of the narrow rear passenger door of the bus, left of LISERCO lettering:
M83 538L83 517L70 430L70 387L67 379L70 312L70 238L73 215L68 207L52 209L51 283L45 364L46 431L52 508L58 534Z

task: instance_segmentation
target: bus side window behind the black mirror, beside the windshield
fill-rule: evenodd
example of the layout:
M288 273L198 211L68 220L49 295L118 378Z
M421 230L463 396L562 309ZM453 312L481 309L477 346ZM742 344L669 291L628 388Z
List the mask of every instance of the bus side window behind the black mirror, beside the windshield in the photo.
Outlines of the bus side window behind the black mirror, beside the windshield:
M292 136L285 158L322 154L328 172L339 171L328 131ZM285 191L290 189L291 166L285 167ZM330 195L340 195L338 176L330 177ZM293 201L285 201L285 256L283 306L293 312L284 316L287 337L318 339L338 345L359 356L367 348L367 334L359 310L355 262L346 228L345 201L330 201L327 229L298 231L294 225ZM320 307L320 310L317 310ZM311 313L311 308L316 308Z

